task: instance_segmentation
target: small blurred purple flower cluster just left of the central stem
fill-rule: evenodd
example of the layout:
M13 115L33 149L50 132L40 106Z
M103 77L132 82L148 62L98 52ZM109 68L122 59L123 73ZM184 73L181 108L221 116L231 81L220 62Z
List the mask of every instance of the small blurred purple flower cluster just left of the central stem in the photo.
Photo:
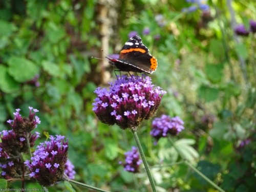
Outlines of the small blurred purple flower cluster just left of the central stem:
M126 152L124 155L125 163L120 161L119 164L123 164L124 170L127 172L138 173L139 166L142 163L138 149L133 146L132 151Z

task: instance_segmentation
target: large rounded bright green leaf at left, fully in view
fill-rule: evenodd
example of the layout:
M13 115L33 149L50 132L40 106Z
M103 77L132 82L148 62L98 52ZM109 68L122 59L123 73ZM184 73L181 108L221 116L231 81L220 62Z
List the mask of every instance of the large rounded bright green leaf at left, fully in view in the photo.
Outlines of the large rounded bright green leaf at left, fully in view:
M31 80L39 72L39 67L34 62L23 57L10 57L8 65L9 74L18 82Z

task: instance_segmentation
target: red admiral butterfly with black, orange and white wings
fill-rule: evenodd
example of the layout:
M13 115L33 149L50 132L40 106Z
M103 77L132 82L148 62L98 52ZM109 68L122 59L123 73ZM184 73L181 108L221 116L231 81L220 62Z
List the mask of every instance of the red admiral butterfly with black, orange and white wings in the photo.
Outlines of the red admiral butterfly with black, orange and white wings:
M120 71L152 74L157 69L157 59L150 54L138 36L131 37L125 42L118 59L106 58Z

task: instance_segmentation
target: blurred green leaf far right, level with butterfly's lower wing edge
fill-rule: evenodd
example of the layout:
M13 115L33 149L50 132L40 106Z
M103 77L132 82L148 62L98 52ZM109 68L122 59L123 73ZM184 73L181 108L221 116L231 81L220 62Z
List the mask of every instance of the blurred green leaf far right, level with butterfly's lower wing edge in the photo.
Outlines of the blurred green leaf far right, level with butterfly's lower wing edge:
M223 76L223 69L224 69L223 64L218 64L218 65L207 64L205 66L206 75L212 83L217 83L221 81Z

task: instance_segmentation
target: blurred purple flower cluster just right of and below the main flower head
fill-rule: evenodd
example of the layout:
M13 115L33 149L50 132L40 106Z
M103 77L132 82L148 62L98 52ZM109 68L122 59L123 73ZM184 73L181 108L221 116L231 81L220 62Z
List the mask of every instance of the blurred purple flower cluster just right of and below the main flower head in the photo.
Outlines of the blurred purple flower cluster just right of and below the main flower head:
M182 130L184 122L180 117L170 118L167 115L162 115L160 118L155 118L152 123L152 131L150 134L158 141L161 137L170 135L178 135Z

